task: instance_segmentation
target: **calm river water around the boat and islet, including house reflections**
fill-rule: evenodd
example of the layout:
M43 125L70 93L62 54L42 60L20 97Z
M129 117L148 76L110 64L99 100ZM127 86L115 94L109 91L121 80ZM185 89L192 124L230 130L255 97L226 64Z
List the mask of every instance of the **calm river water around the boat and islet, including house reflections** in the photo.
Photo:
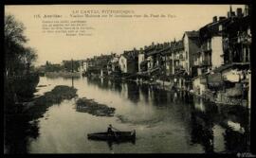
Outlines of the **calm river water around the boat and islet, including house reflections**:
M72 79L41 77L35 95ZM116 108L113 117L77 111L75 100L48 108L37 120L38 136L30 137L28 153L205 153L248 148L248 113L243 107L216 106L187 94L167 92L136 82L74 79L79 97ZM87 139L105 132L108 124L121 131L136 130L135 143L109 144Z

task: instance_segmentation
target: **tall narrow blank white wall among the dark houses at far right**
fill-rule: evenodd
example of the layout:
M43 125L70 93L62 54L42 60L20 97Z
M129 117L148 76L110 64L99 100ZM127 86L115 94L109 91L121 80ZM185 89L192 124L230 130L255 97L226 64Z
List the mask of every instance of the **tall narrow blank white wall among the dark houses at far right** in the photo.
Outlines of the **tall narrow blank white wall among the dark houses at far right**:
M213 36L211 38L211 63L212 68L216 68L221 66L224 63L224 59L222 57L223 46L222 46L222 37L221 36Z

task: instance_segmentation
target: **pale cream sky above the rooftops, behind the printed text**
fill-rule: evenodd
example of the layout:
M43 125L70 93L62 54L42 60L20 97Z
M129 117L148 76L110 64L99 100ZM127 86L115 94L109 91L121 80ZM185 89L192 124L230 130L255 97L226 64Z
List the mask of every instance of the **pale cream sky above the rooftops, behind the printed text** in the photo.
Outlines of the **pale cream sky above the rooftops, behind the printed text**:
M232 10L244 10L244 5L231 5ZM132 15L149 15L148 18L82 17L73 18L74 10L132 10ZM64 60L85 60L111 52L121 54L124 50L144 45L180 40L185 31L198 30L212 22L213 16L227 16L229 5L40 5L5 6L5 13L12 14L26 26L27 46L37 50L36 65L46 61L60 63ZM35 15L41 18L35 18ZM62 18L46 18L58 14ZM79 13L83 15L82 13ZM172 18L151 17L154 14L172 15ZM116 14L114 13L114 16ZM44 33L42 21L82 20L93 29L86 30L91 36L66 36L60 33Z

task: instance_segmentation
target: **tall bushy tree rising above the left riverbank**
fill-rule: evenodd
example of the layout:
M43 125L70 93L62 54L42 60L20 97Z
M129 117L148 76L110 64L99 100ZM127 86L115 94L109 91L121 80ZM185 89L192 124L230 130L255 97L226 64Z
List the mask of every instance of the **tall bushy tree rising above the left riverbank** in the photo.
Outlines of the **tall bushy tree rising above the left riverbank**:
M21 74L37 59L36 51L24 46L27 43L24 30L25 26L13 15L5 15L5 75L7 76Z

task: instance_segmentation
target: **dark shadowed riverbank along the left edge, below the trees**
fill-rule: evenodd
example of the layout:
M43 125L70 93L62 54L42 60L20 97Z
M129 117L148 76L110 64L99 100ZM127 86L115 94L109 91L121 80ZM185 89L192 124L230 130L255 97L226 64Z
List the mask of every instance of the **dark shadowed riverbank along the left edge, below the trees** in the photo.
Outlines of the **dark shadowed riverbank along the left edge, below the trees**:
M36 72L5 76L4 84L4 153L26 153L27 138L38 134L33 125L28 124L27 114L23 114L22 103L30 102L39 83Z

